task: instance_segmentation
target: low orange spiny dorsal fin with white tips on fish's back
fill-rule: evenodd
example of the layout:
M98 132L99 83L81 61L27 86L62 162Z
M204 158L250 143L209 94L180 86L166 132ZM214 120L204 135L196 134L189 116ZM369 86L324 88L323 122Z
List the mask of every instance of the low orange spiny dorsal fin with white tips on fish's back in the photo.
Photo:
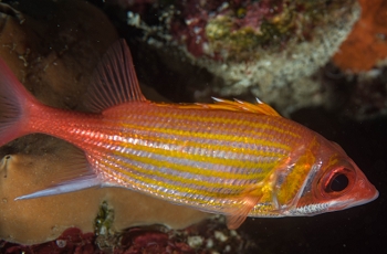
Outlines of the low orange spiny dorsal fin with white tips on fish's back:
M251 104L247 102L242 102L239 99L228 100L222 98L212 97L215 104L192 104L192 105L184 105L185 108L210 108L210 109L224 109L232 112L251 112L255 114L262 114L268 116L281 116L274 108L269 106L265 103L262 103L257 98L257 104Z

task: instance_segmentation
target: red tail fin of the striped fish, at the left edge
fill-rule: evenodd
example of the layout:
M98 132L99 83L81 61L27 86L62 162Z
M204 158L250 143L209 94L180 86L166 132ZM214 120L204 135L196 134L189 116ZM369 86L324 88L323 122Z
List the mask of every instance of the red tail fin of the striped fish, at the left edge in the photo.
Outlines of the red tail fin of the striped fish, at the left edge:
M38 100L0 59L0 146L28 134L28 109Z

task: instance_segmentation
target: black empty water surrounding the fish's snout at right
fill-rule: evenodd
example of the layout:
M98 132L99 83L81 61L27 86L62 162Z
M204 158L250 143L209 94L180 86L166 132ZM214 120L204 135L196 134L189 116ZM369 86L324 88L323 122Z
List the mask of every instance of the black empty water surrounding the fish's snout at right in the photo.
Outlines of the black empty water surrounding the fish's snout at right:
M387 253L387 118L352 121L314 108L299 110L292 119L338 142L379 198L312 218L250 219L241 230L257 240L252 253Z

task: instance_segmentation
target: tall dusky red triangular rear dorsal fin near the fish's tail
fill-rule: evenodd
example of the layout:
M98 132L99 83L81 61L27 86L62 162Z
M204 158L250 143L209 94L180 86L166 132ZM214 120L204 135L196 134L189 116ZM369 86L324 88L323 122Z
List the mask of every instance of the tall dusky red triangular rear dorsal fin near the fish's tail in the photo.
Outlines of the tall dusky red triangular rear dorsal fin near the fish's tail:
M94 113L128 102L145 102L125 40L115 42L94 71L84 105Z

